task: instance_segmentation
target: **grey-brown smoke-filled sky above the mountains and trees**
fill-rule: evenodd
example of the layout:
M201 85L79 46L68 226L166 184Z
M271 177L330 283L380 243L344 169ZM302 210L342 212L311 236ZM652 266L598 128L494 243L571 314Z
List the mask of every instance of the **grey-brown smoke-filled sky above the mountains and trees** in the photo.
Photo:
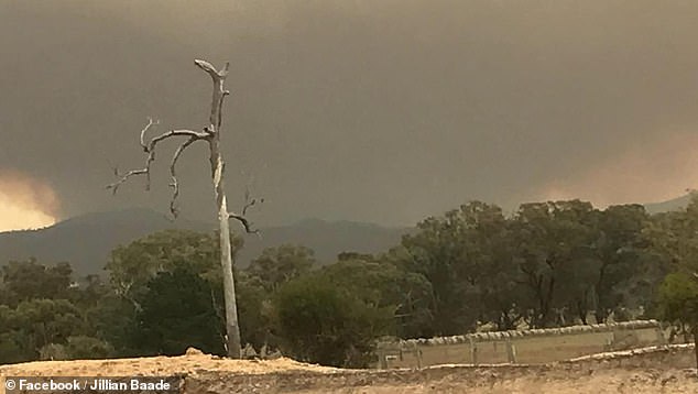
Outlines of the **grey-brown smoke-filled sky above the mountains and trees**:
M229 61L231 205L411 225L481 199L646 203L698 183L695 1L0 0L0 169L52 187L59 217L167 208L140 167L149 116L206 124ZM204 144L179 162L181 209L212 218ZM19 198L19 197L18 197Z

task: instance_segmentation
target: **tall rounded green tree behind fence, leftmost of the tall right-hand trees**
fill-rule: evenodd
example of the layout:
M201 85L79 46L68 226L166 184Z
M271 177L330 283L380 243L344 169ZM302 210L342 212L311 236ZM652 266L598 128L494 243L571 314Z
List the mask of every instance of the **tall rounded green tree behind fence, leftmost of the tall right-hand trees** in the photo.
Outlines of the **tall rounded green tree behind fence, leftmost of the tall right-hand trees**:
M430 282L434 333L462 333L486 321L513 328L525 292L502 209L471 201L417 227L403 238L399 264Z

